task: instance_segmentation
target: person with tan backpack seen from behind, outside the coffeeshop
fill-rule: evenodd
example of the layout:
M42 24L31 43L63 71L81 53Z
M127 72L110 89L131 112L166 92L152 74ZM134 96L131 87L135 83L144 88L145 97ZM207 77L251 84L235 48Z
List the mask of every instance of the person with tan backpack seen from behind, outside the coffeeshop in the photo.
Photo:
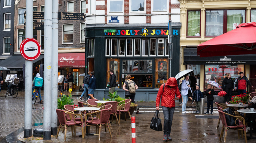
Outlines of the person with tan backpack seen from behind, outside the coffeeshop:
M127 75L126 79L127 80L123 84L123 90L125 90L125 98L130 98L132 103L135 103L135 90L137 90L139 87L134 81L131 80L131 75Z

